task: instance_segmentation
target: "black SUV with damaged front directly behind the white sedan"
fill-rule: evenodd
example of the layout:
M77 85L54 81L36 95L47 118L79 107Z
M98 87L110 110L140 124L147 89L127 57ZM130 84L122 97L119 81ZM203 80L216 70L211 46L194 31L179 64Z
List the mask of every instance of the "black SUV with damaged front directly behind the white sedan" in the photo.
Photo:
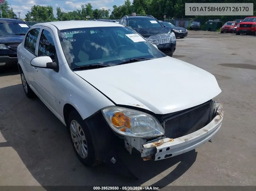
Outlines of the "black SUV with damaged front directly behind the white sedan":
M172 28L164 27L151 15L125 15L119 24L132 28L168 56L172 56L176 49Z

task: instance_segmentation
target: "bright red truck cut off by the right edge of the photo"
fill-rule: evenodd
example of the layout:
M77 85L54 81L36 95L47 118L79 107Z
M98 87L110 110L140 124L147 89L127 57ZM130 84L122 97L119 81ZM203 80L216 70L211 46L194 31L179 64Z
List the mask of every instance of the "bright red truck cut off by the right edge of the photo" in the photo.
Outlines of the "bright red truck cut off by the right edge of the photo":
M256 33L256 17L246 17L241 23L237 25L236 35Z

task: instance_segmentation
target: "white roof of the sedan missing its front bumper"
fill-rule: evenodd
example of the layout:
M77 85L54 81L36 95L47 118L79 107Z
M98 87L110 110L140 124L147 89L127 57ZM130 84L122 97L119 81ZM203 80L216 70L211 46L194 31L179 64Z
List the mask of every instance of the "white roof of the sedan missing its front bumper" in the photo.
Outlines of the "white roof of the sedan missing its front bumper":
M114 23L114 22L105 22L105 21L98 21L98 22L90 22L90 21L55 21L55 22L47 22L47 23L38 23L33 25L35 26L45 26L52 28L55 26L58 30L64 29L72 29L72 28L86 28L86 27L124 27L121 24Z

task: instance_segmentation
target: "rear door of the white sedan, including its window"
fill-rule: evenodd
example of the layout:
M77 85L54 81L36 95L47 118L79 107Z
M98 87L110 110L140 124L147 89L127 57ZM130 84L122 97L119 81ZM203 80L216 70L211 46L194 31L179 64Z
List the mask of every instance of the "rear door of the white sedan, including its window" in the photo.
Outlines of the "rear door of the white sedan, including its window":
M25 71L23 72L25 72L25 77L28 84L32 86L32 89L35 87L35 81L33 78L33 67L30 65L30 61L37 56L36 44L38 43L39 31L39 27L28 31L24 41L24 48L21 49L21 55L19 58L22 60L25 68Z

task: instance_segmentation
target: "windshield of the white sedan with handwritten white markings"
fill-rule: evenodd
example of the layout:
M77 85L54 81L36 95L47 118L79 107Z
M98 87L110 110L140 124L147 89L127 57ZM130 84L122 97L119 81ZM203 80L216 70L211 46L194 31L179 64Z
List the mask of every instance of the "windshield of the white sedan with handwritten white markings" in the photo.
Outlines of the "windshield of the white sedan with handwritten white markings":
M91 64L118 65L130 59L165 55L128 27L87 27L59 31L71 69Z

